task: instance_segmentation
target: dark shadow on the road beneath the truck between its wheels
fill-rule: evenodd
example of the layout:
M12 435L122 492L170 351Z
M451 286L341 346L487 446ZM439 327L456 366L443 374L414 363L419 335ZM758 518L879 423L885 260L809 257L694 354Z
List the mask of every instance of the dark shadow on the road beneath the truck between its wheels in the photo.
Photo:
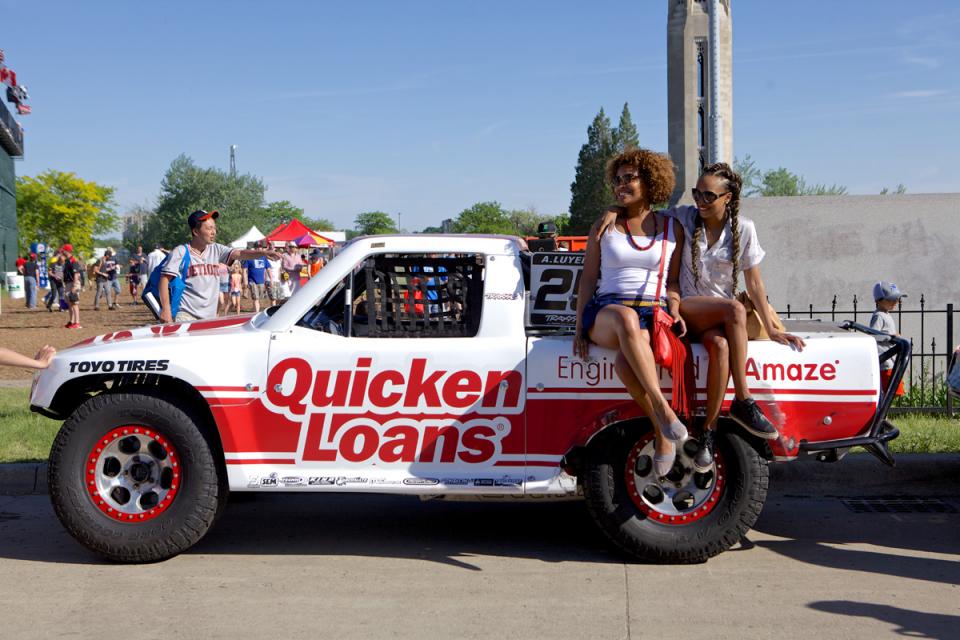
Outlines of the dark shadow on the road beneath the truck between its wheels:
M241 495L190 553L414 558L479 570L475 555L622 563L581 502Z

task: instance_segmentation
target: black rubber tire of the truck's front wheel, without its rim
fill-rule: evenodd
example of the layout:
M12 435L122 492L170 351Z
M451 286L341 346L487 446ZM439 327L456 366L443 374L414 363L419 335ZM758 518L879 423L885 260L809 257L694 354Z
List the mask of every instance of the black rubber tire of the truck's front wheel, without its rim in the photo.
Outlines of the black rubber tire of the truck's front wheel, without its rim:
M90 452L105 435L138 426L176 452L176 493L162 513L145 521L110 517L91 496ZM171 558L196 544L226 504L224 478L213 438L188 409L161 395L104 393L90 398L64 422L50 451L50 499L60 522L82 545L115 562ZM100 504L103 504L100 502Z

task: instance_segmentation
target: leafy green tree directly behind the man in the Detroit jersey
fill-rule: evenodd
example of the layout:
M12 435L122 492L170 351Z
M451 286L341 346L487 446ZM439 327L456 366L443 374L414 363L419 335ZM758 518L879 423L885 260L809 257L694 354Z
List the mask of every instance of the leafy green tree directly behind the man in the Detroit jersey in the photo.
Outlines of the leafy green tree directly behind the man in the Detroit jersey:
M187 216L196 209L220 212L218 238L229 242L252 225L268 226L263 216L263 181L250 174L230 175L222 169L198 167L186 155L178 156L160 183L157 209L146 225L147 244L173 246L189 238Z

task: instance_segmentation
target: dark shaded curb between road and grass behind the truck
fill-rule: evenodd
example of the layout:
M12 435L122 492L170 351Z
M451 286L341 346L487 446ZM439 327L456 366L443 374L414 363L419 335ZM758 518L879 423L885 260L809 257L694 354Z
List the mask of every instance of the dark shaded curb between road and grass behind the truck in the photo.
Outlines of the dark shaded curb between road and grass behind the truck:
M782 495L960 496L960 454L914 453L897 456L890 468L871 455L852 455L837 463L813 457L770 466L770 493ZM0 464L0 496L47 493L47 463Z

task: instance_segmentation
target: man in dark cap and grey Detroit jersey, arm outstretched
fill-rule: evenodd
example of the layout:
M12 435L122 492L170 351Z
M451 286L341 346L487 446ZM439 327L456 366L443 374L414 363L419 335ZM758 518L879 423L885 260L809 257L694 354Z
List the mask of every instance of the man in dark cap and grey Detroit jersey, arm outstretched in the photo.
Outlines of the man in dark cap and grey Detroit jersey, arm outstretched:
M187 217L190 226L189 245L179 245L170 251L170 259L160 275L160 321L190 322L214 318L217 315L217 294L220 291L219 264L253 258L277 259L280 254L272 249L233 249L217 244L217 211L197 209ZM170 308L170 281L180 277L184 256L190 251L190 267L184 283L183 297L176 317Z

